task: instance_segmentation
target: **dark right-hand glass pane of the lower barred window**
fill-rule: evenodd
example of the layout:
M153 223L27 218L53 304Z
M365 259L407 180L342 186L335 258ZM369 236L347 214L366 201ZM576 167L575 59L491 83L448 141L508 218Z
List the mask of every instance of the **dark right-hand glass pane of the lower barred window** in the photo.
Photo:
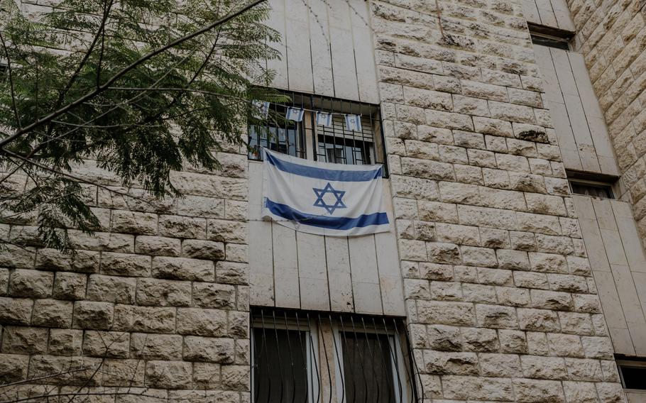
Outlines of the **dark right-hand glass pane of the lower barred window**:
M389 336L341 332L347 402L394 402Z

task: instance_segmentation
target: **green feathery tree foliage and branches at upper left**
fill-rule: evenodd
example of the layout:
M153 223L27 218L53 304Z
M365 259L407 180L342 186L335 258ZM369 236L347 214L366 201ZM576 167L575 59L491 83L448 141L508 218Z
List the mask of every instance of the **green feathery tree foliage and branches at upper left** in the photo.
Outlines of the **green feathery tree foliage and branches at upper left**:
M98 225L75 176L83 160L155 197L177 195L171 170L216 169L214 150L241 145L251 99L284 101L252 85L280 56L268 6L241 3L63 0L33 18L0 0L0 215L38 214L43 242L65 249L64 228ZM11 175L29 177L26 192Z

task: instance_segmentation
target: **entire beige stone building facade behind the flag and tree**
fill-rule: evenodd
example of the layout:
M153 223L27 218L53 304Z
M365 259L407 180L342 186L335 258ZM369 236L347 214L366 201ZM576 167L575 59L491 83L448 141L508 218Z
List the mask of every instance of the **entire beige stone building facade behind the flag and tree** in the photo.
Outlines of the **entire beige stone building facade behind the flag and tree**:
M119 178L88 161L102 228L72 231L73 257L38 245L33 221L0 225L31 245L0 250L0 401L297 400L273 378L280 360L258 365L265 329L277 347L279 330L307 336L305 402L353 401L346 333L388 335L392 401L625 401L615 354L646 357L643 2L270 3L273 85L308 109L370 114L361 141L388 168L393 229L262 221L246 149L220 153L217 172L176 172L185 197L150 203L106 192ZM315 126L294 129L299 156L329 160ZM573 194L591 179L606 198ZM280 399L261 391L271 382Z

